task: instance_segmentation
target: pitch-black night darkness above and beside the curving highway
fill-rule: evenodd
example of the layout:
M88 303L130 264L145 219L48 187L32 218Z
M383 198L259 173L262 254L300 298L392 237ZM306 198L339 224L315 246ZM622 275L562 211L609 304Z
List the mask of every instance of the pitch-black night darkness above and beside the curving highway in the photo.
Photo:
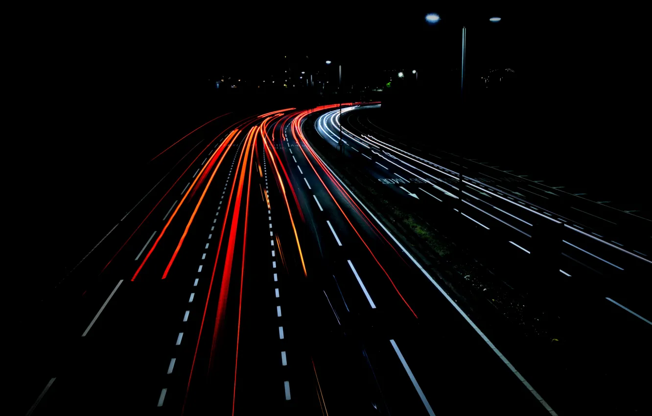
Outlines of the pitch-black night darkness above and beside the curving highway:
M12 279L20 282L17 299L30 301L29 287L45 276L65 275L149 190L138 181L149 159L190 130L226 111L325 100L253 85L215 89L225 73L263 79L279 70L282 56L306 55L312 70L325 59L340 61L345 85L378 81L381 69L410 76L417 68L419 83L383 98L390 121L406 134L432 133L434 126L442 147L473 146L539 165L555 160L552 168L567 175L645 188L644 10L403 6L8 10L6 253L29 265ZM441 22L426 25L426 12L437 12ZM490 15L503 21L490 26ZM462 23L464 121L456 110ZM516 87L487 101L482 85L471 81L488 68L514 68Z

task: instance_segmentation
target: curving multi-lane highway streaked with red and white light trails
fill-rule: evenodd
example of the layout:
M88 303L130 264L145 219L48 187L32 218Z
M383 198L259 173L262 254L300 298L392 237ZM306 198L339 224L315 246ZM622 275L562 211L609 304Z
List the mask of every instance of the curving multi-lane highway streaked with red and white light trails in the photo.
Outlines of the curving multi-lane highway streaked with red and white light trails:
M464 215L478 231L499 229L482 241L499 241L519 264L542 256L533 236L552 238L539 224L558 225L568 246L552 265L561 277L587 267L646 273L645 239L579 203L514 196L521 183L502 189L467 172L460 186L451 158L381 136L349 117L364 107L346 105L216 117L152 149L149 192L48 303L66 306L43 311L44 332L25 350L33 363L21 412L565 415L612 406L582 396L593 381L554 385L539 357L497 340L306 136L336 146L341 110L345 157L378 186L420 210ZM584 310L572 319L594 318L578 346L598 330L619 339L606 351L610 366L649 351L649 304L621 286L572 297ZM584 408L566 397L575 382Z

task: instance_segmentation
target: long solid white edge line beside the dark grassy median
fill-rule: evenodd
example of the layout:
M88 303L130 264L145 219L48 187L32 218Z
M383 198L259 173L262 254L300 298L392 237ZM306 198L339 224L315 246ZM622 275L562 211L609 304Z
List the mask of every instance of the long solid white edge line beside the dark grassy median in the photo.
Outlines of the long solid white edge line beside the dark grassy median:
M433 156L434 156L434 155L433 155ZM318 158L319 158L319 156L318 156ZM323 160L322 160L321 158L319 158L319 160L321 160L321 162L323 163ZM471 321L471 318L469 318L469 316L467 316L467 314L464 313L464 311L462 310L462 308L460 308L460 306L457 305L457 303L456 303L454 300L452 300L452 298L449 296L449 294L446 293L446 291L443 290L443 288L442 288L441 286L439 286L439 284L436 282L436 280L434 280L434 278L432 278L432 276L430 276L430 273L428 273L428 272L426 271L426 269L423 268L423 266L419 263L419 261L417 261L417 260L416 260L416 259L415 259L415 258L414 258L414 257L413 257L409 252L408 252L408 250L406 250L406 248L405 248L401 243L398 242L398 240L396 239L396 237L394 237L394 235L393 235L392 233L390 233L389 230L387 230L387 227L385 227L385 225L384 225L380 220L378 220L378 218L376 217L376 215L374 215L374 213L372 213L372 211L370 211L370 209L368 209L368 207L367 207L366 205L364 205L363 201L361 201L360 198L358 198L357 195L355 195L355 194L353 193L353 191L351 191L351 189L346 185L346 183L344 183L344 182L342 181L342 179L340 179L340 177L338 177L338 176L335 174L335 172L334 172L331 168L329 168L328 165L324 165L324 166L326 166L326 168L328 168L328 170L333 174L333 176L336 177L336 179L338 180L338 182L339 182L342 186L344 186L344 188L346 188L346 190L348 191L349 195L350 195L350 196L353 196L353 198L355 198L355 200L358 201L358 203L359 203L360 205L362 205L362 207L364 207L364 211L366 211L366 212L367 212L367 213L368 213L372 218L374 218L374 221L376 221L376 224L378 224L378 225L379 225L383 230L385 230L385 233L387 233L387 235L389 235L389 237L391 237L392 241L394 241L394 243L396 243L396 245L397 245L397 246L398 246L398 247L399 247L399 248L400 248L400 249L401 249L401 250L406 254L406 256L409 257L409 259L410 259L410 260L415 264L415 266L417 266L417 267L419 268L419 270L421 270L421 273L423 273L423 275L426 276L426 278L428 278L428 280L430 280L430 283L432 283L432 285L435 286L435 287L437 288L437 290L439 290L439 293L441 293L441 295L442 295L443 297L445 297L447 301L449 301L449 303L451 304L451 306L454 307L455 310L457 310L457 312L458 312L460 315L462 315L462 318L464 318L464 319L469 323L469 325L471 325L471 327L475 330L475 332L476 332L479 336L481 336L482 340L484 340L484 342L486 342L486 344L487 344L487 345L488 345L488 346L489 346L489 347L494 351L494 353L496 353L496 355L497 355L498 357L500 357L500 359L503 361L503 363L505 363L505 365L509 366L509 368L512 370L512 372L514 373L514 375L515 375L516 377L518 377L518 379L523 383L523 385L525 385L525 386L527 387L527 389L529 390L529 392L530 392L533 396L535 396L535 398L537 398L537 400L539 400L539 402L541 403L541 406L543 406L543 407L548 411L548 413L550 413L551 416L557 416L556 411L554 411L554 409L552 409L552 408L550 407L550 405L548 404L548 402L546 402L546 400L544 400L544 399L541 397L541 395L540 395L539 393L537 393L537 391L536 391L536 390L535 390L535 389L534 389L534 388L533 388L533 387L532 387L532 386L527 382L527 380L526 380L526 379L525 379L525 378L524 378L524 377L523 377L523 376L522 376L522 375L521 375L521 374L516 370L516 368L514 368L514 366L509 362L509 360L507 360L507 358L505 358L505 356L503 355L503 353L501 353L500 350L497 349L496 346L494 346L494 343L491 342L491 341L489 340L489 338L487 338L487 336L486 336L486 335L481 331L481 329L480 329L477 325L475 325L475 322Z

